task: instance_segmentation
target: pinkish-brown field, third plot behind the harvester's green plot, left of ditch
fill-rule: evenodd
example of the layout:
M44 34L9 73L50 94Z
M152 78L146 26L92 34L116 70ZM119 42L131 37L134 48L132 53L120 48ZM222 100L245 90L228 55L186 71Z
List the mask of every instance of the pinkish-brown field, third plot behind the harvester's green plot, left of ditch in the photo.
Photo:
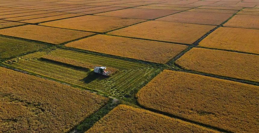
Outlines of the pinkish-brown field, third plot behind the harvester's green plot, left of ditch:
M220 25L233 14L185 11L159 18L159 21Z

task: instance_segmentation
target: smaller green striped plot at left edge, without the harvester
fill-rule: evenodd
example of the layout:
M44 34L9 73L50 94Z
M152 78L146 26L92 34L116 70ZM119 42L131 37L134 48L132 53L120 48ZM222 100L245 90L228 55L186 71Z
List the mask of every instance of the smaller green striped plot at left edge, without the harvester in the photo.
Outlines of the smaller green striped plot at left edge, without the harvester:
M7 37L0 37L0 59L45 48L46 45Z

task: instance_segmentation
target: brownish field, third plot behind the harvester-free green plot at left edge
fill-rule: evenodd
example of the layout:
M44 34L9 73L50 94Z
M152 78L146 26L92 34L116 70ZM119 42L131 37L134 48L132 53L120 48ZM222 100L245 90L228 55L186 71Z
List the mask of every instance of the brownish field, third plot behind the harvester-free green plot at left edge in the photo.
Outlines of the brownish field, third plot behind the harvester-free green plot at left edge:
M96 15L110 16L110 17L137 18L137 19L155 19L158 17L164 17L164 16L174 14L177 12L180 12L180 11L128 8L128 9L123 9L123 10L100 13L100 14L96 14Z

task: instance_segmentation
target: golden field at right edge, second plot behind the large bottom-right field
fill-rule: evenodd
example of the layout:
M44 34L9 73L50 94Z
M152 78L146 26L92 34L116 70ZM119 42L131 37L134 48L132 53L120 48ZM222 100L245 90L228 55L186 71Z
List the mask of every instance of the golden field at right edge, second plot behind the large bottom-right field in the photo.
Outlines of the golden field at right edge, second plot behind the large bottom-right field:
M258 36L258 29L220 27L204 38L199 46L259 54Z

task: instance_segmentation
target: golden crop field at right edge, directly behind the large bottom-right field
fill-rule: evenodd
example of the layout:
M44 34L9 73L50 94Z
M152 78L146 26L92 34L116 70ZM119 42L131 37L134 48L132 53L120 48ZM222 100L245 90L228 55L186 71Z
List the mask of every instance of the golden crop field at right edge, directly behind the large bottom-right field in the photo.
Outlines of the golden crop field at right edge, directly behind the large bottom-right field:
M259 82L258 55L192 48L176 60L187 70Z

